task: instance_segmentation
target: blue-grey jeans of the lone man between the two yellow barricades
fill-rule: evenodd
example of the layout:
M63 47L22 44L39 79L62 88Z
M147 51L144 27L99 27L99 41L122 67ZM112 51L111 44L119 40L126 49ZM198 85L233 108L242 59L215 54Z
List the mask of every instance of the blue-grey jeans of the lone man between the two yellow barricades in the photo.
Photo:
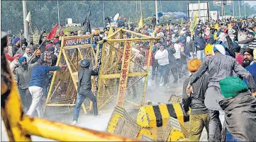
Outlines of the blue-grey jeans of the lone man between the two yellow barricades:
M91 102L93 102L94 116L98 115L98 106L97 106L96 97L91 92L91 90L84 90L83 92L77 93L77 100L76 100L76 106L74 107L74 118L73 118L73 120L75 121L77 121L79 117L79 111L82 103L84 102L85 97L89 97Z

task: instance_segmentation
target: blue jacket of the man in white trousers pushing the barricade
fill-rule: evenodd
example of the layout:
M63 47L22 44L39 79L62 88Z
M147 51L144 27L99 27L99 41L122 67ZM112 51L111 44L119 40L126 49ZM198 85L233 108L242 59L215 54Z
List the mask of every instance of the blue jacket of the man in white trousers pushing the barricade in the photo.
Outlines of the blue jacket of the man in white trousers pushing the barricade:
M60 69L60 66L45 66L45 65L36 65L32 69L31 78L28 84L28 87L31 86L38 86L43 88L45 86L45 78L48 78L47 73L48 71L57 71Z

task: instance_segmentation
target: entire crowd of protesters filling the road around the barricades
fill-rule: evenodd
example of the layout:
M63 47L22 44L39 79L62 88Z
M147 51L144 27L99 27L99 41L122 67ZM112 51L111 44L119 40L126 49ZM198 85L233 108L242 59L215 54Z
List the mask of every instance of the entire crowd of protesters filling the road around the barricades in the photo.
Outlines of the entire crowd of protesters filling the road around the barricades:
M223 125L227 131L225 134L233 136L232 141L256 141L256 17L168 24L156 24L153 17L152 23L143 25L143 28L130 26L126 19L119 20L121 22L116 28L113 27L113 32L123 27L150 37L160 37L160 40L154 41L152 51L150 42L134 42L132 45L130 69L145 70L145 61L152 52L149 86L155 81L155 87L162 88L171 84L171 76L172 83L181 83L182 77L189 76L184 81L182 104L186 113L191 108L190 141L199 141L204 127L208 132L208 141L221 141ZM109 30L96 29L84 32L84 35L93 35L93 41L89 43L96 50L97 42L106 40ZM82 34L70 32L70 35ZM65 36L64 32L60 31L60 36ZM17 37L9 40L4 49L24 110L28 115L37 110L38 117L43 117L40 100L48 95L52 71L65 68L62 64L56 66L60 52L59 38L43 38L41 32L38 45L29 47L26 39ZM124 32L121 38L141 36ZM87 60L81 61L79 83L82 88L78 91L73 124L77 123L84 97L93 100L94 114L98 114L89 81L98 72L89 70L89 64ZM132 90L135 97L136 89ZM224 124L221 115L225 115Z

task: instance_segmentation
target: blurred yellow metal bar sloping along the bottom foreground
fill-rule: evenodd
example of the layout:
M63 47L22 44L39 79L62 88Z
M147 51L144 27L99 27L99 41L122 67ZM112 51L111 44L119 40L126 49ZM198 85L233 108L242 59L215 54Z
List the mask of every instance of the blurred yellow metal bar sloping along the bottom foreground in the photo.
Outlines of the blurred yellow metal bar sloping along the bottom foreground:
M133 138L124 138L115 134L28 116L24 116L20 124L25 134L41 136L57 141L138 141Z

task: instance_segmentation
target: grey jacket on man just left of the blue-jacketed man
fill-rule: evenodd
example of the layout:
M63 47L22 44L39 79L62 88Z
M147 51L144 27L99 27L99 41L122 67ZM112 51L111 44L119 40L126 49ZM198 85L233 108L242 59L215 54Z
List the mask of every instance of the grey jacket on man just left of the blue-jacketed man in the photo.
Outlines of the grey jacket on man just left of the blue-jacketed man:
M36 66L38 63L35 62L34 64L28 64L28 70L24 71L24 69L19 66L16 69L16 81L17 81L17 85L18 88L21 89L27 89L28 88L28 83L30 81L31 78L31 72L34 68L34 66Z

